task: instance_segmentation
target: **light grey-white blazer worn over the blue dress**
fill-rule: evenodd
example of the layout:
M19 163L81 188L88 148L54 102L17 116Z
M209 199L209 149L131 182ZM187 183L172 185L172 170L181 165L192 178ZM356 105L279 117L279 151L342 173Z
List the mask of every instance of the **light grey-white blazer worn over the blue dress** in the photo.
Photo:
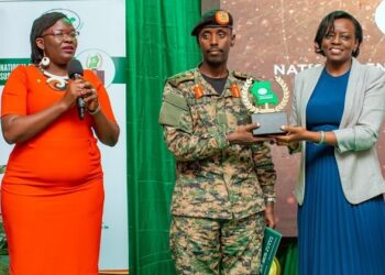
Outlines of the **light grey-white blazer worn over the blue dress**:
M299 73L295 78L292 124L306 128L306 107L324 66ZM332 107L331 107L332 108ZM327 110L326 110L327 111ZM349 76L340 128L334 130L334 150L345 198L360 204L385 193L376 142L385 111L385 73L355 58ZM305 142L295 196L299 205L305 195ZM385 153L385 152L384 152Z

